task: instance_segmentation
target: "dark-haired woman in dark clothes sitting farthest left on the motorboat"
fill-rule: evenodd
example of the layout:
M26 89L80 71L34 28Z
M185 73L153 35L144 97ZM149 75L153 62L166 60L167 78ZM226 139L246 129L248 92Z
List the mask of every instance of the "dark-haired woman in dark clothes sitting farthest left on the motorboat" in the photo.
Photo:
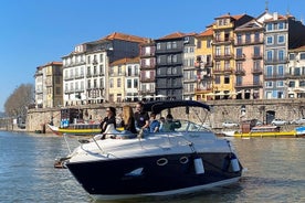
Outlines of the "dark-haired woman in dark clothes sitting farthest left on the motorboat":
M109 128L116 129L116 109L114 107L107 107L106 117L101 122L101 135L96 135L94 139L105 139L109 132Z

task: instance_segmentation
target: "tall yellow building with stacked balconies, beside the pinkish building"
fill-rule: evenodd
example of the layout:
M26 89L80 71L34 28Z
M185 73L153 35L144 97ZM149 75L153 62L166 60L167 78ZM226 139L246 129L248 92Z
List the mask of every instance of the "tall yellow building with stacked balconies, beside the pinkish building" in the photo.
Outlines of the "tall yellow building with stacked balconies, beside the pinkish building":
M235 96L234 29L251 21L246 14L215 18L213 30L213 94L212 99L227 99Z

